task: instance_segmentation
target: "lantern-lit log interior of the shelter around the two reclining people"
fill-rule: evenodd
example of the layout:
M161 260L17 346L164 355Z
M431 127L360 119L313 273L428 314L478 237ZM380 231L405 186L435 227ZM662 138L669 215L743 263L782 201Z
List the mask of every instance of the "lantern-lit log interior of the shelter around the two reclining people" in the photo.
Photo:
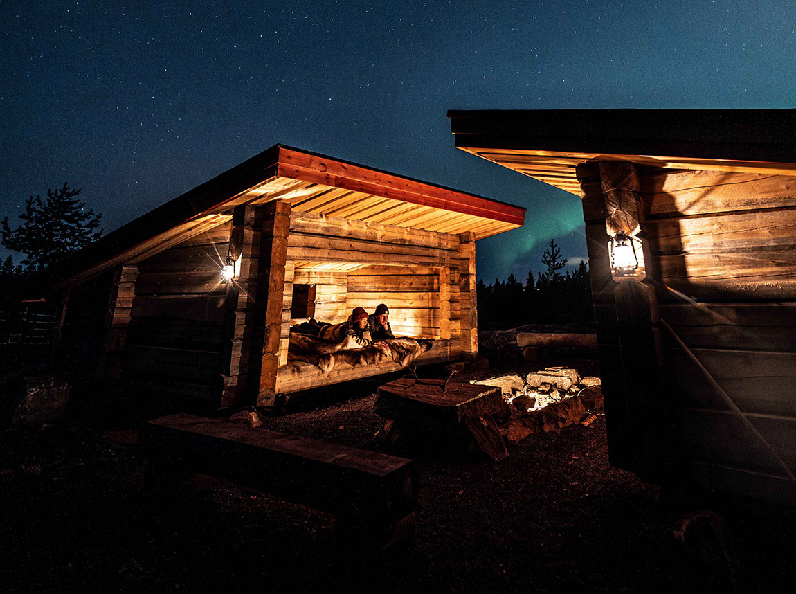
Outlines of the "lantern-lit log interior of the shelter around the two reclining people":
M321 321L342 322L354 307L365 307L373 313L379 303L385 303L390 309L392 330L397 335L435 339L431 352L419 358L423 362L451 361L462 356L464 309L466 344L474 352L478 349L478 342L470 339L477 330L474 291L470 291L470 284L474 287L474 268L470 271L474 242L470 234L466 234L464 241L466 247L462 248L462 238L448 233L291 213L283 303L283 355L287 356L291 322L296 321L290 315L292 283L316 285L314 317ZM466 267L466 307L460 299L462 261ZM276 389L291 393L396 369L400 369L397 363L384 362L323 374L317 369L306 369L306 365L283 364L277 373Z

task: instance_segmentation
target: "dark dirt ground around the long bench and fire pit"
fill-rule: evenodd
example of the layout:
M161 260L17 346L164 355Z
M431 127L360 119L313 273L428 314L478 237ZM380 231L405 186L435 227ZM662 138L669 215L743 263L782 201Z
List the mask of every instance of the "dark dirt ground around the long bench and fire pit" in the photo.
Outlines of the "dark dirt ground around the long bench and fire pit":
M593 360L509 360L464 379L552 364L599 374ZM193 483L164 514L143 489L135 427L72 418L0 432L3 591L792 591L792 513L720 510L738 561L716 565L715 551L700 556L674 537L702 504L612 469L603 416L530 436L500 463L418 444L389 449L374 438L376 385L291 401L266 426L415 459L408 551L341 553L331 516L226 483Z

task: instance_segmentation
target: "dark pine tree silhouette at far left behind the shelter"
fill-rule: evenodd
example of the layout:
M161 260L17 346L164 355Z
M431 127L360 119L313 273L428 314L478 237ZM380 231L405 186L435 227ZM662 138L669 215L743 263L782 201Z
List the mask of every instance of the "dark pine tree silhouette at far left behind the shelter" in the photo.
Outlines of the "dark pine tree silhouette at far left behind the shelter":
M6 248L25 254L22 264L28 271L46 268L102 236L101 214L85 209L86 203L76 196L80 189L72 190L68 184L57 190L47 190L47 197L29 197L25 212L19 215L23 221L11 229L8 217L2 220L2 239Z

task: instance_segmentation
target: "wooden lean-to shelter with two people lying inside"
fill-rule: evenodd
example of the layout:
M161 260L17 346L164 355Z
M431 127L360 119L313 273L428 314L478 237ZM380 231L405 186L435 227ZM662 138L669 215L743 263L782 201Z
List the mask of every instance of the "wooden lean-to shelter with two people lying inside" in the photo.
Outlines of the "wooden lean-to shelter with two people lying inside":
M60 365L205 407L400 369L291 361L291 325L390 308L417 362L478 354L474 242L525 209L277 145L53 270ZM221 269L232 263L235 279Z

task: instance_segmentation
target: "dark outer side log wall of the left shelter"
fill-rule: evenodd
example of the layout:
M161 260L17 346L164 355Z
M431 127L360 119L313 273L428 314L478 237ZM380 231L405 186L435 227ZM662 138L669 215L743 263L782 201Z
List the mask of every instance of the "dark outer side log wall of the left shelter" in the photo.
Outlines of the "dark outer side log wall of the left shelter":
M220 283L231 224L142 260L124 346L124 376L142 389L208 407L228 373L228 285Z

